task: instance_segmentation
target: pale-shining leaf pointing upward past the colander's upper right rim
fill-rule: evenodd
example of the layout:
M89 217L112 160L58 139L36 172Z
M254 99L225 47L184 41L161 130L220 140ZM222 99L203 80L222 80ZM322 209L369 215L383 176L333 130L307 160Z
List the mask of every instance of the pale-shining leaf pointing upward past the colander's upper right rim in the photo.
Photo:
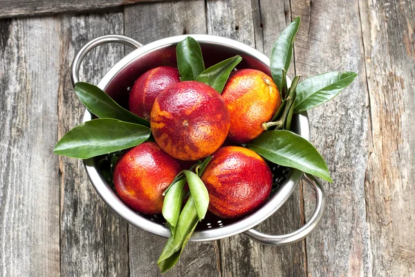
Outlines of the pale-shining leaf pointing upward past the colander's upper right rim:
M288 27L279 35L273 46L270 58L270 69L273 80L279 91L282 90L282 69L288 72L293 56L293 42L299 27L299 17L296 17Z

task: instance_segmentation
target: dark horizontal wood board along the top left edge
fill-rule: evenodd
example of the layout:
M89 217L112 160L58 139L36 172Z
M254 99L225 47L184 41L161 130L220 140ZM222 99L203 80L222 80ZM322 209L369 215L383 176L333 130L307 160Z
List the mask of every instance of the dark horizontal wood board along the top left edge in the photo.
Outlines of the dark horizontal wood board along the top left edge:
M138 3L142 1L148 2L165 0L1 0L0 18L30 15L50 15L57 12L85 12L102 8L122 6L131 3Z

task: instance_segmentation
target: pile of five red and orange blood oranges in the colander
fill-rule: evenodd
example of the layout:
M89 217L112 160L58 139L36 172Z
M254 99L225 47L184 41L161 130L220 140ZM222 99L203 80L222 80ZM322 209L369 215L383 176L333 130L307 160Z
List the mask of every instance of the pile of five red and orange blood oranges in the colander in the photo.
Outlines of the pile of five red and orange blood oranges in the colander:
M264 132L282 103L273 79L256 69L230 74L222 93L197 81L181 81L178 69L160 66L141 75L129 110L150 121L155 142L125 151L113 171L118 195L134 211L159 214L163 192L181 170L208 156L201 175L209 211L239 218L270 195L273 175L259 154L244 148Z

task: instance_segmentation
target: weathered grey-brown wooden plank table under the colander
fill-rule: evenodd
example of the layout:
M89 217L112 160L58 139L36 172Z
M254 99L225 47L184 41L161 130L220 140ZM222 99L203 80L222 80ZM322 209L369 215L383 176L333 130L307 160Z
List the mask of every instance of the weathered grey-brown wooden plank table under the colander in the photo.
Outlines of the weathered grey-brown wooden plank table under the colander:
M302 25L290 75L358 72L349 89L309 113L312 142L334 180L323 182L326 215L306 240L286 247L243 235L188 244L165 276L415 276L411 0L162 1L0 19L0 276L160 275L156 261L165 239L113 213L82 161L53 154L82 119L69 68L86 42L112 33L142 44L208 33L269 55L297 16ZM120 45L98 48L86 58L82 80L98 83L124 55ZM298 186L258 229L294 231L314 204L311 189Z

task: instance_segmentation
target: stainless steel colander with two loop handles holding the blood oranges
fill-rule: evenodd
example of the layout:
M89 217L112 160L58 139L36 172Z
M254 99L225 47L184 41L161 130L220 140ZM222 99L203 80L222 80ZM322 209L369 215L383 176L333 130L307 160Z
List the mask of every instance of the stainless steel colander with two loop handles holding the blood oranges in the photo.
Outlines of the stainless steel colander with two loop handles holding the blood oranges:
M238 69L258 69L270 75L270 60L268 57L246 44L212 35L191 36L201 45L205 65L207 67L216 64L221 60L225 60L228 57L241 55L243 60L238 64ZM176 44L185 39L185 37L186 35L168 37L145 46L122 35L106 35L93 39L77 53L73 60L71 69L73 85L79 80L80 63L86 53L89 53L93 48L102 44L113 42L126 44L136 48L136 50L113 66L98 84L100 89L106 91L109 96L120 102L121 105L125 105L129 96L129 89L142 73L145 73L145 71L156 66L176 66ZM288 84L290 84L291 80L288 81ZM91 114L86 110L83 121L91 120L91 118ZM309 125L306 113L297 114L293 117L292 128L293 132L296 132L304 137L304 139L309 140ZM120 217L149 233L166 238L169 237L169 230L165 226L161 215L153 217L140 215L122 202L116 191L113 189L113 186L108 184L102 176L102 173L98 168L97 159L86 159L84 160L84 165L95 190L97 190L104 202L120 215ZM270 168L273 170L275 181L278 185L277 188L273 190L274 194L268 199L268 202L266 202L264 206L255 213L243 217L240 220L221 220L219 217L209 215L203 222L199 223L199 228L193 233L190 240L218 240L231 235L236 235L237 233L243 233L252 240L263 244L284 245L302 240L306 235L311 233L324 214L326 197L323 188L314 177L304 175L299 170L282 168L274 164L270 164ZM300 179L304 179L310 184L317 195L315 211L310 220L308 220L302 228L286 235L267 235L252 229L275 213L275 211L286 202ZM290 219L287 218L287 220Z

